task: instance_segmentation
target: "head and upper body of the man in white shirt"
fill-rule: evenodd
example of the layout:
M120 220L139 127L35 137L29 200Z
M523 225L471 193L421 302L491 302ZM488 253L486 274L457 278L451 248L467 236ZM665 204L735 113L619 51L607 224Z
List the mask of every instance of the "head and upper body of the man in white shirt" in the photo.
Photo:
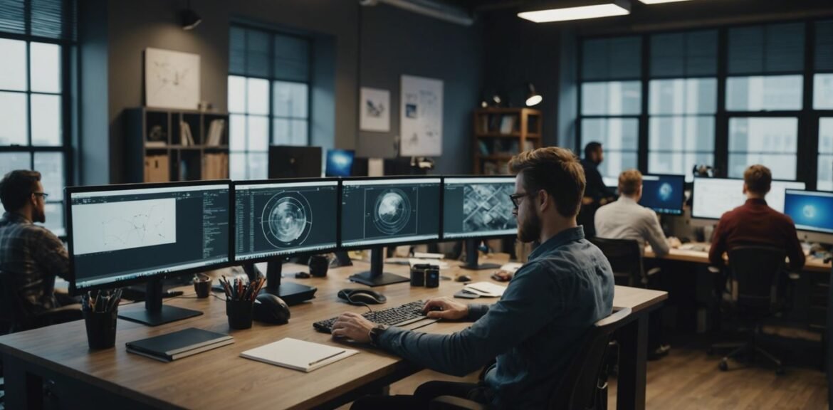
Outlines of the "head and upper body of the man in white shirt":
M619 199L596 211L596 237L635 239L640 248L649 243L658 258L678 248L677 238L666 238L656 213L641 206L642 173L628 169L619 175Z

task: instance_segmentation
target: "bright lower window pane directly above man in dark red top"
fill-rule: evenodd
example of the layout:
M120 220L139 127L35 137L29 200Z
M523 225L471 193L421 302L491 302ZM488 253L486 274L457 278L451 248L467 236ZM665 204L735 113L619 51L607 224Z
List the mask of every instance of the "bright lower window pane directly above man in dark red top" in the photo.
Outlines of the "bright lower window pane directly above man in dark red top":
M773 179L796 179L798 118L734 117L729 120L729 177L743 178L760 163Z

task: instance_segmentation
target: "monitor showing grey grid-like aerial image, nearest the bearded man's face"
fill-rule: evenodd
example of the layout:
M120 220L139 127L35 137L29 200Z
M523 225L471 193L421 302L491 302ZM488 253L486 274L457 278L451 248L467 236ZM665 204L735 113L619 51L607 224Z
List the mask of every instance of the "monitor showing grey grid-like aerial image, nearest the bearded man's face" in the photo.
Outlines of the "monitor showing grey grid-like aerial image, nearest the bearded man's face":
M442 238L466 239L466 269L496 269L500 265L477 263L477 247L483 238L514 238L517 218L509 196L515 178L446 177L442 180Z

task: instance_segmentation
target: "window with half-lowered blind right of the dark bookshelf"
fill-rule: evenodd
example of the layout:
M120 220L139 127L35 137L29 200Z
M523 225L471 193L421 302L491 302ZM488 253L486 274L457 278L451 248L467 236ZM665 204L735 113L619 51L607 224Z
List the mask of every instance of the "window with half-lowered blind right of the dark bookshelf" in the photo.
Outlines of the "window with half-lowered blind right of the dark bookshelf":
M230 43L231 178L267 178L270 144L309 143L309 41L232 26Z

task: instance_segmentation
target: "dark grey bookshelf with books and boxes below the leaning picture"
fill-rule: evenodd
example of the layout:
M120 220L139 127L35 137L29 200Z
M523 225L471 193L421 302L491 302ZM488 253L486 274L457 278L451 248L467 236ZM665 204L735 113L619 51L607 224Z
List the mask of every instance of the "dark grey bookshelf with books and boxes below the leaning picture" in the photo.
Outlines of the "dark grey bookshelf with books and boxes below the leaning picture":
M126 110L127 182L228 178L228 114L137 107Z

